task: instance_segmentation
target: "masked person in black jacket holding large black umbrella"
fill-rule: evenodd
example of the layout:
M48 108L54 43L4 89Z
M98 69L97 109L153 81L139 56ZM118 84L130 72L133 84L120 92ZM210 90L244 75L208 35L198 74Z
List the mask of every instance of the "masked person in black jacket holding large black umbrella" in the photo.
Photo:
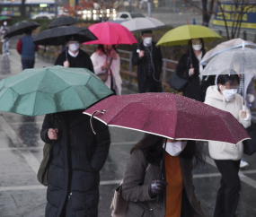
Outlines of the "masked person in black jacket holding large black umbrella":
M94 73L93 63L88 54L80 49L80 43L77 38L72 37L67 43L67 50L64 50L59 56L55 65L62 65L73 68L87 68Z

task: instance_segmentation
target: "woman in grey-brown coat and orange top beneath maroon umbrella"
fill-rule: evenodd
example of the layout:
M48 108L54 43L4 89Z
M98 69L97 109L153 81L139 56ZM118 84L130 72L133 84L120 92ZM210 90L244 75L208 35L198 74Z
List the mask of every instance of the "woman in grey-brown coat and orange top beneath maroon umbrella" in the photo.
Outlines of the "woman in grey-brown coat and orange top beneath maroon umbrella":
M126 217L205 217L192 181L193 166L204 161L198 144L189 141L181 153L166 147L162 174L164 140L145 135L131 150L121 192L129 202Z

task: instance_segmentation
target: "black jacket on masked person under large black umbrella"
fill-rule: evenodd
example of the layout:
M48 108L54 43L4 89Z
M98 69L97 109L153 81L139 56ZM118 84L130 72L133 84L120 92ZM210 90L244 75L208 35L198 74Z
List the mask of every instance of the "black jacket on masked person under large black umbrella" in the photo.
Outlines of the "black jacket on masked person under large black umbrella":
M84 50L79 49L79 54L77 56L70 56L67 52L67 59L69 62L69 67L72 68L87 68L94 73L93 63L88 54ZM66 50L64 50L55 61L55 65L62 65L66 61Z

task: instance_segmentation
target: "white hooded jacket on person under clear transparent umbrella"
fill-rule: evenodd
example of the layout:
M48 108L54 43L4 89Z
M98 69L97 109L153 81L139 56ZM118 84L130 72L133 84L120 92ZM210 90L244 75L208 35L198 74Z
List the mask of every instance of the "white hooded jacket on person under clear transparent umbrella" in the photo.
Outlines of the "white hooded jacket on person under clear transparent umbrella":
M209 86L207 88L205 103L216 109L230 112L245 128L251 126L251 112L247 107L245 107L245 109L249 116L245 119L241 117L243 111L243 97L239 94L235 94L234 100L227 101L217 90L217 85ZM209 142L208 148L211 158L216 160L238 161L241 160L243 156L243 143L233 145L230 143Z

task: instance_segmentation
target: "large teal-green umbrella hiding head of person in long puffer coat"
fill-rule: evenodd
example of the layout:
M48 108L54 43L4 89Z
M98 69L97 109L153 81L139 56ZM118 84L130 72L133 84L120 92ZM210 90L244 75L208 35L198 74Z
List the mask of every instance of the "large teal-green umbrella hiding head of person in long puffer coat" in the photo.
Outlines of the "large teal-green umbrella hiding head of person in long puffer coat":
M25 116L86 109L113 92L84 68L25 69L0 82L0 110Z

